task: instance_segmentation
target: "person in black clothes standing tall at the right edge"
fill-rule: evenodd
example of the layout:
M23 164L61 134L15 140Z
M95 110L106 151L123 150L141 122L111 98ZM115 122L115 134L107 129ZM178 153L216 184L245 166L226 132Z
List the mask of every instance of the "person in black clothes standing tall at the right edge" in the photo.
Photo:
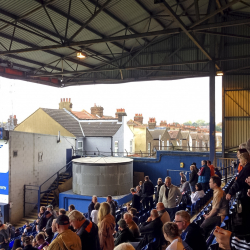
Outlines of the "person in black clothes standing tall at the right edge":
M233 186L229 189L227 200L230 200L233 195L241 191L238 199L242 206L242 229L244 233L250 233L250 197L247 195L249 186L245 182L250 176L249 154L247 152L240 154L240 163L243 169Z

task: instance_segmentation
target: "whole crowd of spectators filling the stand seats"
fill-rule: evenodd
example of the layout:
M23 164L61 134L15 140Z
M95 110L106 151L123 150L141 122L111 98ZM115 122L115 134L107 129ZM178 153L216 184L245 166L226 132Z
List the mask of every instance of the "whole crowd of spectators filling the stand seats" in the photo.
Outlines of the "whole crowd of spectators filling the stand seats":
M250 142L249 142L250 143ZM227 194L221 188L221 173L203 160L200 169L196 163L190 166L189 181L180 173L180 187L172 184L170 177L158 179L154 186L149 176L136 188L131 188L132 203L127 204L117 219L118 204L107 196L99 203L93 196L88 216L76 210L74 205L54 211L53 206L40 207L37 220L25 223L20 232L10 224L0 221L0 249L9 250L10 239L16 239L13 250L205 250L206 240L214 230L222 249L250 249L247 238L220 228L229 215L229 201L237 196L238 213L242 219L242 232L250 235L250 156L246 148L237 153L239 171ZM187 188L188 187L188 188ZM186 190L187 189L187 190ZM196 203L213 191L212 205L202 223L191 222L189 210L176 209L188 194ZM142 220L141 211L147 217Z

